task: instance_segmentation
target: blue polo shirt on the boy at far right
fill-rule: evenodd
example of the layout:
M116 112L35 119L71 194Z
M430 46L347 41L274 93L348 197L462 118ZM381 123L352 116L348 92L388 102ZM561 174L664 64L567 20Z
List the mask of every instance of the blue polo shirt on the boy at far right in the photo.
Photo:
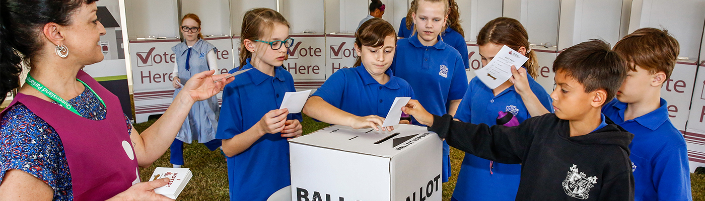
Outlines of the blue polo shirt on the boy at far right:
M630 133L629 145L637 201L693 200L685 138L668 119L668 103L641 117L624 121L627 103L617 98L602 107L602 113Z

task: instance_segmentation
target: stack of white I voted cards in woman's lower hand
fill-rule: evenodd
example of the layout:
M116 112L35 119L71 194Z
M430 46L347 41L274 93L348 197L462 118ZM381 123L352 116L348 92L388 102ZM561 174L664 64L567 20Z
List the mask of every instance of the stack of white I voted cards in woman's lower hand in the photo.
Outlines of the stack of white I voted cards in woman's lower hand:
M157 169L154 169L152 177L149 177L149 181L162 178L170 179L166 186L154 189L154 193L176 200L186 183L191 180L191 176L193 174L188 168L157 167Z

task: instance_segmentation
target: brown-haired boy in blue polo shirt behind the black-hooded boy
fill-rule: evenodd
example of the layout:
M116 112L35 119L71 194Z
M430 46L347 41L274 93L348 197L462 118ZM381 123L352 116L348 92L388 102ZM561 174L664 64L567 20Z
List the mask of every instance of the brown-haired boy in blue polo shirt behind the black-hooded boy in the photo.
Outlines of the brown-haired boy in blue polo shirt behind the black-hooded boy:
M661 86L680 51L668 31L642 28L614 46L630 63L617 98L602 112L634 134L629 145L635 200L692 200L685 138L668 119Z

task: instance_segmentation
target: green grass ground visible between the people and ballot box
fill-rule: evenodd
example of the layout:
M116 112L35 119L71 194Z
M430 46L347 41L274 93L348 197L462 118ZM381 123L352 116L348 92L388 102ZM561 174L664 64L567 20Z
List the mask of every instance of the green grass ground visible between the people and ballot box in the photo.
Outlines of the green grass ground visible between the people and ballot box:
M152 125L154 120L135 124L137 131L144 131ZM304 116L303 133L309 134L312 131L328 127L329 124L315 122L310 117ZM184 166L190 168L193 179L184 188L183 193L177 200L228 200L228 173L225 157L220 150L210 151L200 143L185 144L183 150ZM455 148L450 148L450 164L453 167L453 176L449 181L443 183L443 201L449 201L453 195L455 180L458 179L458 171L464 153ZM156 167L171 167L169 163L169 151L159 158L151 167L140 168L140 178L142 181L149 181L149 176ZM705 174L690 174L693 200L705 201Z

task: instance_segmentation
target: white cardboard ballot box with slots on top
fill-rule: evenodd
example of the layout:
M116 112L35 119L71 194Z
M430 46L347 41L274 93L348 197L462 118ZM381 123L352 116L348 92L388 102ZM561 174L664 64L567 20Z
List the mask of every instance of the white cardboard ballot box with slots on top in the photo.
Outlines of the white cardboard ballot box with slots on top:
M289 144L292 200L441 200L443 147L427 127L336 125Z

